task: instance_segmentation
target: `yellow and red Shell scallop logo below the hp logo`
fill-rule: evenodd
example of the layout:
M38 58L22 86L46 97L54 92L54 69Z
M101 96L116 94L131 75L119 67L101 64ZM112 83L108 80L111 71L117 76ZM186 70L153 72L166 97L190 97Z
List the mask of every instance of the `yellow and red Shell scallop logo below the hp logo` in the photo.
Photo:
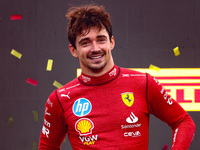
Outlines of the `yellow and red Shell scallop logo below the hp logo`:
M75 129L81 136L91 134L93 128L94 124L88 118L81 118L75 124Z

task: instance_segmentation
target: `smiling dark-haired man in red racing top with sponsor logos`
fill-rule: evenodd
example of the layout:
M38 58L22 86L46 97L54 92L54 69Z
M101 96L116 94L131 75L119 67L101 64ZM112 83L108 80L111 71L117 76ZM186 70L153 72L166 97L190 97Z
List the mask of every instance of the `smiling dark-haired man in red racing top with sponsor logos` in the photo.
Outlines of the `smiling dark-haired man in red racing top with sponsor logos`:
M73 149L147 150L150 114L172 128L172 150L188 149L195 132L191 117L155 78L114 64L104 8L73 7L67 18L69 50L82 73L47 100L39 149L59 150L68 134Z

